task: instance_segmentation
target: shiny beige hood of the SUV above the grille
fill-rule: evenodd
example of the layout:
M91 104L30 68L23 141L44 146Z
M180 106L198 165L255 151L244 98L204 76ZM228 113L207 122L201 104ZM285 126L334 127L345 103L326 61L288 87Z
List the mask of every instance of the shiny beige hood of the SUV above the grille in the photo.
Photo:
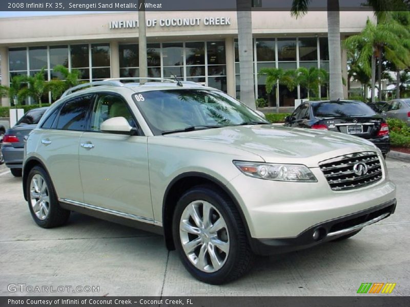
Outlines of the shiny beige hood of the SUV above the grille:
M359 137L277 125L229 126L166 137L211 142L214 146L229 145L252 152L265 162L302 163L309 167L317 167L320 161L346 153L376 150L373 143Z

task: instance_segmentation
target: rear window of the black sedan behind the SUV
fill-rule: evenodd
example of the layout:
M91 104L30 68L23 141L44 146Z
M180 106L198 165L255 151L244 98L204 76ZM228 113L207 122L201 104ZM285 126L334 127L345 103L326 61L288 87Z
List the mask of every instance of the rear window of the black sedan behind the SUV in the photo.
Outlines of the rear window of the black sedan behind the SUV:
M316 117L374 116L373 109L360 101L329 101L313 103Z

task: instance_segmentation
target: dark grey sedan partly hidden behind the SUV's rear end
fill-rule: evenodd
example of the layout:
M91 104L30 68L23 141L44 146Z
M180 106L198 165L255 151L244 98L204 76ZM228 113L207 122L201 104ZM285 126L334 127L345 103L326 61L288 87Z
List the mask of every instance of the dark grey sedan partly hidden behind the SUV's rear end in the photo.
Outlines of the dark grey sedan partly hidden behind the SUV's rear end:
M17 123L6 131L3 137L4 163L14 177L22 177L24 142L30 131L35 128L48 107L28 111Z

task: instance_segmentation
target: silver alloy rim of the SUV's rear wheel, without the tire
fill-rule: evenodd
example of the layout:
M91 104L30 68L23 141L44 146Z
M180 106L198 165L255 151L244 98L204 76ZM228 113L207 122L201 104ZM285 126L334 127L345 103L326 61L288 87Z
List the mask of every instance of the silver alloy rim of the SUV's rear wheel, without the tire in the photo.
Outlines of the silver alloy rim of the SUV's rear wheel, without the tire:
M50 196L46 181L35 174L30 183L30 204L39 220L45 220L50 210Z

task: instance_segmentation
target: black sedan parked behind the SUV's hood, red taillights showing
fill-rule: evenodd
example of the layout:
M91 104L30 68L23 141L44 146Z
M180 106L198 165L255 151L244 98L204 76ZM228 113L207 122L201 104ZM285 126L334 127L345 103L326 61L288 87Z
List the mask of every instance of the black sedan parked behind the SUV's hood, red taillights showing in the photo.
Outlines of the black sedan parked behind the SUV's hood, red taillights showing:
M336 131L374 143L386 157L390 136L386 121L361 101L310 101L285 119L285 126Z

